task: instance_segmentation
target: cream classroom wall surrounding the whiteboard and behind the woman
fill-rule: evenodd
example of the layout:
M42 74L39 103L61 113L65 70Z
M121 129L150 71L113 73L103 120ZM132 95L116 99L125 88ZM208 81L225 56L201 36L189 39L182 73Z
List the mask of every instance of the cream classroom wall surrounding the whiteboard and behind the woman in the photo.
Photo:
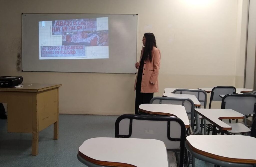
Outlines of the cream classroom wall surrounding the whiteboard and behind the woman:
M245 44L242 0L0 0L0 4L0 75L23 76L24 83L61 83L60 113L133 113L135 74L21 72L22 13L138 14L137 60L145 32L155 34L161 50L159 93L154 96L162 96L166 87L235 85L241 82L237 78L243 78L238 73Z

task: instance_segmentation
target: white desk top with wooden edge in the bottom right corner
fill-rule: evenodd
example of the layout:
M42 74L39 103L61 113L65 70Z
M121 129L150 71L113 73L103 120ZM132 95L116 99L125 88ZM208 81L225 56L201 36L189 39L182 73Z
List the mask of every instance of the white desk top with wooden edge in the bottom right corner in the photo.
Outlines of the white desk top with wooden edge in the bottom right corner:
M196 153L233 163L256 163L256 138L242 135L190 135L188 146Z

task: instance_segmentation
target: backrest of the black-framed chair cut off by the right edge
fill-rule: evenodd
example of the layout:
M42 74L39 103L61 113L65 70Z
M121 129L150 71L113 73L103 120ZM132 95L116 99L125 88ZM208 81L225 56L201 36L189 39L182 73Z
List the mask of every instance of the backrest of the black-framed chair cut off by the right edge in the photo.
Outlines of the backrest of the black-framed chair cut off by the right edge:
M227 94L222 98L221 108L233 109L241 114L255 114L256 95Z

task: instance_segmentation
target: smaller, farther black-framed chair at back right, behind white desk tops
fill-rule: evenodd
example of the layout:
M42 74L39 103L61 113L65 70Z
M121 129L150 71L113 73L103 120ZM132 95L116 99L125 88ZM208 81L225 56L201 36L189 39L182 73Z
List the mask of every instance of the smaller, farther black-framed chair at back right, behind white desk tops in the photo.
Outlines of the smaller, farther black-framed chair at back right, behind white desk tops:
M211 108L212 101L222 101L220 95L236 94L236 88L234 86L215 86L211 90L209 108Z

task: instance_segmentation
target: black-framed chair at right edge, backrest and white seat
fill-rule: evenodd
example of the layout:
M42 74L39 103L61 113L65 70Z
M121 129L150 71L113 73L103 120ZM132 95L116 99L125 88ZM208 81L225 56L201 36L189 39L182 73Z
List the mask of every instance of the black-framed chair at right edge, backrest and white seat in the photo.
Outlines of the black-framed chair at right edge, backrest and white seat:
M251 130L247 127L246 115L254 115L256 110L256 95L253 94L227 94L222 98L221 108L233 109L244 116L244 125L241 123L229 123L232 127L230 133L246 133Z

